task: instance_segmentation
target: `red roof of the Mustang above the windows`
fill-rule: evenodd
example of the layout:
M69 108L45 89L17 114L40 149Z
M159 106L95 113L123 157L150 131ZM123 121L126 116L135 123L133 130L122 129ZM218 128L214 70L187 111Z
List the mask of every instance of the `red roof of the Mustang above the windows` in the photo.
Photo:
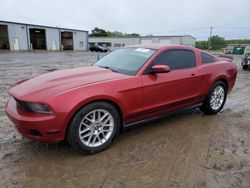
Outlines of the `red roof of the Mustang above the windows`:
M136 44L127 46L128 48L149 48L153 50L167 49L167 48L178 48L178 49L190 49L195 50L196 48L177 44Z

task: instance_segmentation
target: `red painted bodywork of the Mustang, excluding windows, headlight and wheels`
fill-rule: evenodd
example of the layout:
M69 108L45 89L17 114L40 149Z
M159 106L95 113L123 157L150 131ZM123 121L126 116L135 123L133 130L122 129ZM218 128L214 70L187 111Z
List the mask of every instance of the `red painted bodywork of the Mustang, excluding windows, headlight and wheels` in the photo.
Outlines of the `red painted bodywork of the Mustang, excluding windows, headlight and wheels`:
M123 125L201 103L211 86L223 79L230 91L235 83L236 65L226 59L201 62L201 51L178 45L136 45L156 53L135 76L112 72L100 67L66 69L40 75L10 88L12 96L6 114L18 131L44 142L63 140L74 114L93 101L109 101L119 109ZM163 51L188 49L195 53L196 67L169 73L144 74L148 66ZM53 115L27 112L15 99L47 104ZM30 134L38 130L42 136Z

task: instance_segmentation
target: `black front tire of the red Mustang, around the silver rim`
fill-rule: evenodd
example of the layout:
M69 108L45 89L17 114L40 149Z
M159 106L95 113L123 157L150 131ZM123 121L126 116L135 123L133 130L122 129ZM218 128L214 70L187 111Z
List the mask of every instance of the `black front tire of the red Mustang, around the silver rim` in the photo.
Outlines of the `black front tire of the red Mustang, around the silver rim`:
M82 141L80 138L80 129L81 129L80 124L82 124L82 121L84 121L84 118L87 119L88 114L93 113L93 111L95 111L95 110L97 110L97 111L104 110L112 116L112 118L113 118L112 119L113 130L112 130L112 132L109 131L109 132L111 132L110 137L107 139L105 138L104 143L102 143L100 141L102 143L101 145L96 146L96 147L94 147L94 146L90 147L90 146L86 145L85 143L83 143L84 141ZM92 123L92 124L94 124L94 123ZM91 128L91 130L88 130L90 132L87 132L87 134L91 133L92 138L93 138L93 136L97 137L94 133L96 131L94 128L95 126L90 125L89 127L92 127L92 128ZM102 126L100 126L100 127L102 127ZM111 145L113 139L115 138L115 136L118 133L119 127L120 127L120 116L119 116L117 109L113 105L111 105L107 102L94 102L94 103L88 104L87 106L84 106L82 109L80 109L75 114L75 116L73 117L72 121L70 122L70 125L68 128L67 141L68 141L69 145L72 147L72 149L78 153L83 153L83 154L98 153L98 152L101 152L101 151L107 149ZM96 134L98 134L98 138L100 138L100 135L103 133L96 133ZM89 136L88 138L90 138L90 137L91 136ZM90 138L89 142L91 142L92 138ZM103 134L102 138L104 138L104 134ZM93 140L94 140L94 138L93 138ZM93 140L92 140L92 142L95 143L96 138L94 141Z

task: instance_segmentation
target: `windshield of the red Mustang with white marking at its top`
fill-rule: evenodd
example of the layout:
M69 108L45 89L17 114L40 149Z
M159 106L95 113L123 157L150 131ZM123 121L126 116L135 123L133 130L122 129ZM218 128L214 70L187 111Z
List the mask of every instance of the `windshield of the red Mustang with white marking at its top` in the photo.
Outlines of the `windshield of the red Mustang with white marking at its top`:
M136 75L144 63L155 53L146 48L121 48L104 56L94 66L127 75Z

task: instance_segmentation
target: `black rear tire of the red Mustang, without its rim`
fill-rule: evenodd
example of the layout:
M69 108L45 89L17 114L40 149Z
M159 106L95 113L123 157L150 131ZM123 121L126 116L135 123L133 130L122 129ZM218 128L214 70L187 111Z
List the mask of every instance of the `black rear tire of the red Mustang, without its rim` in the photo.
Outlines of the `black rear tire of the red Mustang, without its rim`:
M224 98L223 98L223 102L218 107L218 109L215 109L211 105L211 98L212 98L213 92L218 87L223 88L223 90L224 90ZM203 102L202 106L200 107L200 109L205 114L216 114L216 113L220 112L222 110L222 108L224 107L224 104L226 102L226 98L227 98L227 86L226 86L226 84L224 82L218 81L209 90L208 95L207 95L206 99L204 100L204 102Z

